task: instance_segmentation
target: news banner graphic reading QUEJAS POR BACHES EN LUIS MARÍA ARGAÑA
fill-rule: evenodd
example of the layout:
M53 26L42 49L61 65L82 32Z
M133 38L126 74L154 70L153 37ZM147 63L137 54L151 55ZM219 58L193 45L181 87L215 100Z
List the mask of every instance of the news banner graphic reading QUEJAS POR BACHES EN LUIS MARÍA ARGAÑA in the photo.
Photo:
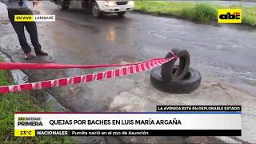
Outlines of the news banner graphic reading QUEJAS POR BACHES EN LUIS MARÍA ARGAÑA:
M214 106L191 107L214 109ZM14 136L241 136L241 106L221 107L233 110L215 107L218 111L18 112L14 113ZM238 107L240 110L234 111Z

